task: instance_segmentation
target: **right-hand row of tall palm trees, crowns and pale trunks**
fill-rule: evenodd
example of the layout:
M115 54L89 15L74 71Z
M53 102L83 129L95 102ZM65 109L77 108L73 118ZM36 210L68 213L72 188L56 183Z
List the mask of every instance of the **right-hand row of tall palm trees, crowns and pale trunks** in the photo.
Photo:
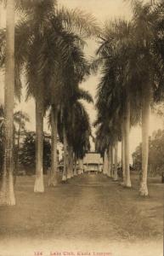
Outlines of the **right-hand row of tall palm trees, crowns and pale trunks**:
M96 146L105 155L108 175L112 171L113 148L122 141L123 185L131 187L129 132L142 124L142 180L139 194L148 195L147 169L150 106L163 100L164 3L133 1L133 18L105 23L99 36L93 70L101 67L97 91ZM116 153L117 154L117 153ZM111 163L111 167L110 164ZM116 164L117 166L117 164Z

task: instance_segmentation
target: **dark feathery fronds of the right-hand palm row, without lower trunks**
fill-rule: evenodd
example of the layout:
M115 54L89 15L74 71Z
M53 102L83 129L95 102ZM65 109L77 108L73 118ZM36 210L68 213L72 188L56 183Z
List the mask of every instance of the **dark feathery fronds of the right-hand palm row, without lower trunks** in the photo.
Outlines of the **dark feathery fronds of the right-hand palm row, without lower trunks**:
M96 108L96 147L103 152L121 139L123 110L130 98L131 125L141 120L143 89L150 86L151 107L164 96L164 4L133 1L132 20L107 20L99 35L93 72L100 69Z

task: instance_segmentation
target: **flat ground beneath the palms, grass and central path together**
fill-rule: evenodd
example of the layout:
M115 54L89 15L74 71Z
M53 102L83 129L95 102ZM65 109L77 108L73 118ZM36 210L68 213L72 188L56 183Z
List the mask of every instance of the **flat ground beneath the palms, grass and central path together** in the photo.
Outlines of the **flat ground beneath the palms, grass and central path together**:
M18 177L16 206L0 207L1 245L24 240L29 244L40 241L40 246L45 241L65 241L67 246L69 241L161 244L164 184L150 178L150 196L144 199L139 197L136 177L132 177L133 188L124 189L102 174L83 174L48 188L45 176L43 194L33 192L35 177Z

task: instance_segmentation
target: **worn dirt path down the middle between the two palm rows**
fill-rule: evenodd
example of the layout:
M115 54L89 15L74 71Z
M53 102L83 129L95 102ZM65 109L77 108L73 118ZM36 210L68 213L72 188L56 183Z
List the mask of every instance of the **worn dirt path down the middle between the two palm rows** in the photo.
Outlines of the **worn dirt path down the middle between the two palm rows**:
M105 236L107 238L114 230L108 218L109 204L105 194L106 188L109 189L113 184L109 181L106 183L106 177L96 175L78 177L78 179L78 183L76 180L71 181L71 189L78 196L61 229L66 237L71 236L72 239L99 240L104 239Z

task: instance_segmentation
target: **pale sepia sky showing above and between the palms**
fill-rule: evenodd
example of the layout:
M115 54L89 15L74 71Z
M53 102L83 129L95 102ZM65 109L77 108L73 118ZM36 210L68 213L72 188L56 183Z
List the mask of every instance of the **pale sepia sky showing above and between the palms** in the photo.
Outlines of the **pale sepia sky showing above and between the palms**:
M69 9L82 9L87 13L91 13L99 22L99 24L103 24L105 20L112 20L115 17L121 16L125 19L131 18L131 7L128 1L123 0L59 0L58 3L61 6L65 6ZM1 11L1 9L0 9ZM4 25L5 14L1 12L0 16L0 24ZM95 49L97 44L95 40L88 40L88 46L85 49L86 55L88 57L93 56L95 53ZM82 83L81 86L83 89L88 90L95 100L96 88L99 84L99 76L91 75L89 79ZM0 101L3 102L3 77L0 76ZM33 100L29 102L24 102L25 89L23 90L23 98L22 102L19 103L16 108L22 109L26 113L30 115L31 123L27 125L27 129L35 131L35 104ZM92 104L85 104L85 107L88 110L91 122L93 123L96 118L96 110L94 109ZM153 131L156 131L159 128L163 128L163 121L161 118L157 117L155 114L151 114L150 116L150 134ZM48 131L47 120L44 121L44 129ZM130 132L130 152L133 153L135 148L141 142L141 129L140 127L132 128ZM119 151L121 147L119 148Z

